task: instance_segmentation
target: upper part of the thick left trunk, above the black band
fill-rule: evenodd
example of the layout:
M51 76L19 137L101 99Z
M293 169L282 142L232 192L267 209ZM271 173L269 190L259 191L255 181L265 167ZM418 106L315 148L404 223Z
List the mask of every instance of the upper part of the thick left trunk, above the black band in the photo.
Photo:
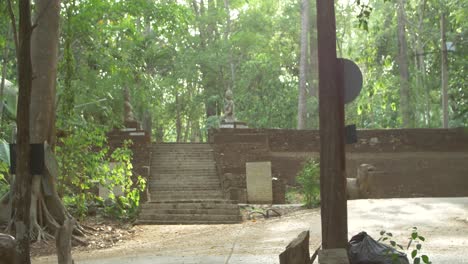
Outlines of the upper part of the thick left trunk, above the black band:
M31 142L54 143L55 83L60 20L60 0L35 0L37 27L32 35L34 69L31 100Z

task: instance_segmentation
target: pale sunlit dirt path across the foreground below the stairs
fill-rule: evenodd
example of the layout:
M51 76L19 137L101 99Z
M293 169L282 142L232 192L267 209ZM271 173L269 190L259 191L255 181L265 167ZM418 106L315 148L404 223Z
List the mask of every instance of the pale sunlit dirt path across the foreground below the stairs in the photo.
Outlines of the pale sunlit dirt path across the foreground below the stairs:
M349 235L391 231L401 244L417 226L433 263L468 263L468 198L356 200L348 203ZM297 234L309 229L311 250L320 243L320 214L305 210L237 225L139 226L132 241L74 254L76 263L278 263ZM231 254L232 253L232 254ZM230 257L229 257L230 256ZM228 262L226 262L229 259ZM55 256L33 260L56 263Z

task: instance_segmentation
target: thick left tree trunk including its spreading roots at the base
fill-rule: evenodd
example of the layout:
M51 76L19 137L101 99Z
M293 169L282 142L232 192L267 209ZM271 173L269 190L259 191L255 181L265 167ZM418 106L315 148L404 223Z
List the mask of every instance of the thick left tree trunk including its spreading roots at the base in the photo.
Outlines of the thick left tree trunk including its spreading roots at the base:
M30 52L28 54L31 58L31 67L35 70L34 78L29 78L33 89L31 90L31 98L27 107L20 105L18 102L18 120L28 123L28 143L29 141L32 143L43 143L46 140L53 142L53 128L55 127L55 78L60 1L36 0L36 10L35 21L37 25L35 25L34 32L29 30L29 34L32 34L30 41L33 42L33 45L28 50ZM28 21L30 22L31 19L29 18ZM20 57L20 59L22 58ZM21 73L21 71L19 72ZM21 111L19 111L20 109ZM24 117L26 113L27 121ZM48 145L45 151L45 156L52 159L53 153ZM20 152L19 156L21 155L23 154ZM18 164L18 168L21 168L20 164ZM29 175L28 193L31 204L28 206L27 215L29 217L28 224L31 225L31 228L28 232L28 237L36 236L37 240L44 238L52 239L53 236L49 233L54 234L66 219L72 218L57 194L54 176L47 169L44 169L42 175L33 175L32 177ZM48 187L48 193L44 193L44 189L41 188L43 185ZM43 216L41 223L43 226L38 223L38 215ZM47 232L49 233L45 232L45 228L47 228ZM78 225L75 226L74 234L83 235L82 228ZM74 242L82 245L87 244L86 241L78 237L74 237Z

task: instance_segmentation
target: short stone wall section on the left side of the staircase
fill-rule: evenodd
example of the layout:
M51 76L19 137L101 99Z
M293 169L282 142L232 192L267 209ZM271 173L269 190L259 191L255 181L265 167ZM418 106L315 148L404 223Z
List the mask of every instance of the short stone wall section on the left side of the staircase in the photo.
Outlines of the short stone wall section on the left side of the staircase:
M150 176L150 164L151 164L151 137L150 135L140 129L135 128L124 128L114 129L107 133L107 141L110 150L113 151L115 148L121 147L125 140L131 140L133 143L130 149L133 152L133 181L135 182L136 176L140 175L145 179ZM146 201L146 192L142 194L142 201Z

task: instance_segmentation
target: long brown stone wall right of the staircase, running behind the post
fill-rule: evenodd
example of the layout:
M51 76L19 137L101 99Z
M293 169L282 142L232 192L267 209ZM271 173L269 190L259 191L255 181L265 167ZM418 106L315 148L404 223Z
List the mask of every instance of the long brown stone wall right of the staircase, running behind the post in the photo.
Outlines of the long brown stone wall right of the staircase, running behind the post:
M359 130L357 137L356 144L346 146L347 177L355 178L357 168L367 163L388 177L447 175L468 182L468 129ZM246 162L271 161L272 177L277 178L273 201L284 203L284 186L296 184L304 162L318 158L320 151L316 130L214 129L209 142L227 198L240 202L246 202ZM453 196L468 196L468 188L465 192Z

